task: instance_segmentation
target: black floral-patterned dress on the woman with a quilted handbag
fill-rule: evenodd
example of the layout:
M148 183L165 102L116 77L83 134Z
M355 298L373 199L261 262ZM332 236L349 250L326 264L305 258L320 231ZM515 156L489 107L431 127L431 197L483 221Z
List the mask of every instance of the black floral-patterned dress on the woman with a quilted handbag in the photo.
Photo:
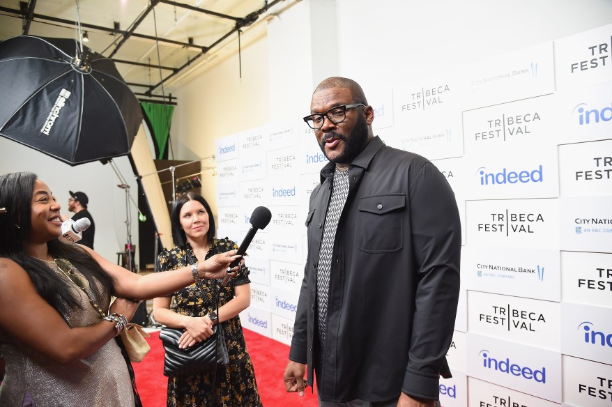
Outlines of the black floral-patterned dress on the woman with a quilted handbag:
M206 259L218 254L236 249L236 243L228 238L213 239L211 249L206 254ZM165 249L158 256L159 270L162 272L176 270L188 266L196 256L192 247L188 244L184 247ZM224 289L221 289L219 306L226 304L234 298L234 287L240 284L249 284L249 270L243 266L240 275L229 280ZM175 312L189 316L205 316L208 312L215 311L215 293L221 286L220 279L203 279L204 298L197 284L192 284L184 289L176 291L171 295L176 301ZM213 402L213 374L201 374L190 377L168 378L168 406L215 406L215 407L257 407L261 406L259 391L255 381L255 372L247 347L240 318L234 316L221 323L227 350L229 352L229 364L217 369L217 385L215 386L215 402Z

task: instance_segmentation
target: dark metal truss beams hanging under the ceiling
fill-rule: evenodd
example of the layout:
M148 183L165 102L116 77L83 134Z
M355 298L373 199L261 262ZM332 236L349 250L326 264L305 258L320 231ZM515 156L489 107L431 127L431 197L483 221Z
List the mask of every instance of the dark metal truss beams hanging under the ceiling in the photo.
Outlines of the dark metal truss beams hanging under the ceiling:
M141 86L143 88L148 89L144 93L135 93L136 95L141 95L141 96L144 96L146 98L151 98L151 97L153 97L153 98L168 98L168 96L164 97L163 95L155 95L155 94L153 94L153 91L155 89L158 89L158 87L162 86L165 82L167 82L172 77L178 75L180 72L182 72L183 70L185 70L186 68L191 66L191 64L194 63L194 61L196 61L202 55L204 55L207 52L209 52L215 46L219 45L223 40L225 40L226 38L231 36L233 33L238 33L238 36L240 36L240 29L243 29L244 27L250 26L251 24L256 22L260 15L262 15L263 13L266 13L266 11L268 11L268 9L270 9L273 6L275 6L275 4L280 3L281 1L284 1L284 0L273 0L270 3L268 3L268 1L266 0L266 1L264 1L263 7L259 8L259 10L255 10L254 12L250 13L249 15L246 15L245 17L233 17L231 15L225 15L225 14L222 14L222 13L216 13L215 11L212 11L212 10L206 10L204 8L197 8L197 7L194 7L194 6L190 6L188 4L178 3L176 1L170 1L170 0L151 0L151 3L149 4L149 6L139 15L139 17L137 17L137 19L134 22L132 22L132 24L130 24L130 28L128 30L126 30L126 31L118 29L117 26L105 27L105 26L98 26L98 25L94 25L94 24L86 24L84 22L81 22L81 26L85 27L85 28L88 28L88 29L95 29L95 30L99 30L99 31L107 31L109 33L120 34L121 36L123 36L123 38L121 38L121 41L119 41L119 43L116 44L116 46L114 47L112 53L109 56L109 58L112 59L112 61L114 61L115 63L127 63L127 64L131 64L131 65L135 65L135 66L144 66L144 67L148 67L148 68L158 68L158 69L163 69L163 70L171 70L172 73L169 76L163 78L158 84L155 84L155 85L129 84L129 85L132 85L132 86ZM144 20L146 15L148 15L148 13L151 13L151 10L153 10L153 8L155 6L157 6L159 3L165 3L165 4L169 4L170 6L175 6L175 7L187 8L188 10L197 11L199 13L205 13L207 15L211 15L211 16L217 17L217 18L233 20L234 22L236 22L236 24L234 24L234 28L233 29L231 29L229 32L225 33L223 36L221 36L221 38L217 39L211 45L208 45L208 46L195 45L194 43L192 43L192 41L190 41L189 43L182 43L181 41L167 40L166 38L155 37L155 36L146 36L146 35L143 35L143 34L135 33L134 31L138 28L139 24ZM23 28L24 35L28 34L30 24L31 24L31 22L34 19L57 22L57 23L60 23L60 24L66 24L68 26L76 26L77 25L77 22L75 22L75 21L65 20L65 19L61 19L61 18L57 18L57 17L52 17L52 16L49 16L49 15L36 14L36 13L34 13L34 8L36 8L36 0L30 0L29 2L28 1L20 1L20 10L16 10L14 8L8 8L8 7L0 6L0 11L3 11L5 13L10 13L10 14L17 15L17 16L21 17L24 20L24 24L23 24L23 26L24 26L24 28ZM137 62L137 61L125 61L123 59L113 59L112 56L114 56L116 54L118 49L121 48L121 46L123 46L125 44L125 41L127 41L130 37L145 38L145 39L148 39L148 40L154 40L154 41L158 41L160 43L174 44L174 45L178 45L178 46L181 46L181 47L197 48L197 49L200 49L201 52L199 54L197 54L196 56L194 56L193 58L189 59L185 64L183 64L182 66L180 66L178 68L169 67L169 66L155 65L155 64L151 64L151 63L141 63L141 62ZM171 100L172 98L173 97L170 96L169 100ZM139 99L142 100L141 98L139 98ZM154 100L148 100L148 101L149 102L156 102Z

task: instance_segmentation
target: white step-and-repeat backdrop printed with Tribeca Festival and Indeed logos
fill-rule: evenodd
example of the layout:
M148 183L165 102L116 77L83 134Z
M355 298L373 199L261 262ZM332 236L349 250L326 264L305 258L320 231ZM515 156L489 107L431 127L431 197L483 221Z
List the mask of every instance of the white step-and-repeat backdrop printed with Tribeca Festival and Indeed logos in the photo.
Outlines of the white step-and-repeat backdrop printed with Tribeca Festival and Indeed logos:
M612 406L612 24L365 91L376 135L432 160L461 213L443 406ZM239 243L254 208L273 213L240 318L290 344L327 160L299 119L224 137L216 155L217 235Z

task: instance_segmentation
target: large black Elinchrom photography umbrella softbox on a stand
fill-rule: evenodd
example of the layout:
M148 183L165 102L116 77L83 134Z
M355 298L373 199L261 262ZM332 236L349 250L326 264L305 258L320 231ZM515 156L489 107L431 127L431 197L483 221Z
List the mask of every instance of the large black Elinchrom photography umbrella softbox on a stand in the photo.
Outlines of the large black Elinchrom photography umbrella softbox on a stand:
M70 165L126 155L142 121L114 63L76 40L0 42L0 135Z

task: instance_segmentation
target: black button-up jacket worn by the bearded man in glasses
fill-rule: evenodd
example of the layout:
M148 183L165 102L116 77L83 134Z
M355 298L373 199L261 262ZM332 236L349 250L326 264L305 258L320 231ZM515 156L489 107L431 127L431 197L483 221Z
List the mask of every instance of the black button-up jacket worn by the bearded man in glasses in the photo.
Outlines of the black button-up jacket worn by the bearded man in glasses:
M349 169L336 233L326 342L316 337L316 266L335 164L310 197L308 254L289 359L323 352L325 401L438 399L459 298L461 225L450 185L420 155L372 139Z

